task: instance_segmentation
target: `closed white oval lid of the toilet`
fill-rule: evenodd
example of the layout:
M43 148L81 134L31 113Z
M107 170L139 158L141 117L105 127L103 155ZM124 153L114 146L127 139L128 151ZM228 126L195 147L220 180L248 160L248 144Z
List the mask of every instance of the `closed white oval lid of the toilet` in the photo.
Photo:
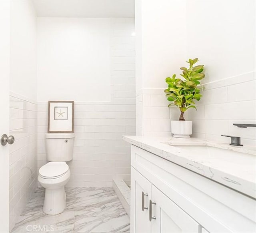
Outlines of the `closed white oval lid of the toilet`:
M65 162L49 162L40 167L39 174L43 177L59 177L68 171Z

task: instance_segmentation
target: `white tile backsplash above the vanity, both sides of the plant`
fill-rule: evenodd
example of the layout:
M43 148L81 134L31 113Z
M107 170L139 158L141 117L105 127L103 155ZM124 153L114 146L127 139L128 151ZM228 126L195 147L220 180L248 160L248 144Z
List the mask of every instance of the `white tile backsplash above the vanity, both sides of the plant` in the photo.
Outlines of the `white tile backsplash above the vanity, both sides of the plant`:
M233 123L256 123L255 73L218 80L203 85L197 111L188 110L186 119L193 120L193 136L229 143L223 134L240 136L242 143L255 145L256 130L240 129ZM137 133L148 136L170 136L170 119L179 118L178 108L170 108L164 89L142 89L137 95ZM141 94L142 93L142 94ZM143 110L141 112L141 110Z

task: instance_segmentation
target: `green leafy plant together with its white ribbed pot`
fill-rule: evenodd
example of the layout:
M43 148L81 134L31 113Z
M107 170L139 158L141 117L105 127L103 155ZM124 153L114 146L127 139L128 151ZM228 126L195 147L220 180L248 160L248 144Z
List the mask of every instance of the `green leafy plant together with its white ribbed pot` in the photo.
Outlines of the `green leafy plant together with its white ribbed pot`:
M172 78L166 78L168 88L164 90L167 100L172 102L168 105L175 105L180 109L180 119L178 121L171 121L171 132L173 137L189 138L192 134L192 121L185 121L184 112L189 108L195 108L194 100L199 101L202 95L197 86L200 85L199 80L204 78L202 73L204 65L194 66L198 62L198 58L189 59L189 68L181 67L182 78L176 78L176 74Z

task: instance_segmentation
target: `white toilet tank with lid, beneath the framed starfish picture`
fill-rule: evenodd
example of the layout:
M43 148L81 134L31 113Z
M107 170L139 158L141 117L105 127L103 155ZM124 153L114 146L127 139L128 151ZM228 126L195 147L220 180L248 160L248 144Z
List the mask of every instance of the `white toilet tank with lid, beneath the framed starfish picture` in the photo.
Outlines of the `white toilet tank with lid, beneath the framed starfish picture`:
M74 133L46 133L46 159L50 162L67 162L73 159Z

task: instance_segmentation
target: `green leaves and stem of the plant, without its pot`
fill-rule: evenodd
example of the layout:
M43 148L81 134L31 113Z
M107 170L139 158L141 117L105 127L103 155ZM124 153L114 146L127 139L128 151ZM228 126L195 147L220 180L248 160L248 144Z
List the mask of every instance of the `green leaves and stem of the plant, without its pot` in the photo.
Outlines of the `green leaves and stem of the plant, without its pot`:
M168 84L168 88L164 90L167 96L167 100L172 102L168 105L175 105L180 109L180 121L184 121L184 112L189 108L195 108L194 100L199 101L202 95L200 94L200 89L197 88L200 85L199 80L204 78L202 73L204 70L204 65L194 66L198 62L198 58L189 59L189 68L181 67L182 76L184 79L176 78L176 74L172 78L168 77L165 79Z

